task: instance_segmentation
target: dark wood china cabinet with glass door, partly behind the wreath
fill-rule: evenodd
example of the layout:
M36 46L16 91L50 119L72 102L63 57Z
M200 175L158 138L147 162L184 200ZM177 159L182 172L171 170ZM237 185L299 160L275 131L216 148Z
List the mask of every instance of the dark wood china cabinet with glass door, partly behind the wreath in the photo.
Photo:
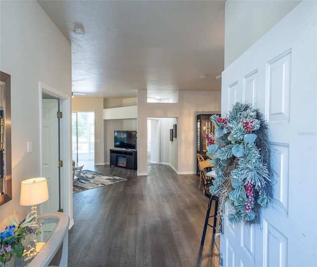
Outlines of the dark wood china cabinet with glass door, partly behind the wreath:
M214 125L211 123L210 117L213 114L199 114L197 115L197 121L196 121L196 131L197 131L197 152L200 155L203 156L205 160L208 159L206 156L207 153L207 139L205 137L205 134L214 134ZM196 157L196 173L199 174L199 168L198 168L198 159Z

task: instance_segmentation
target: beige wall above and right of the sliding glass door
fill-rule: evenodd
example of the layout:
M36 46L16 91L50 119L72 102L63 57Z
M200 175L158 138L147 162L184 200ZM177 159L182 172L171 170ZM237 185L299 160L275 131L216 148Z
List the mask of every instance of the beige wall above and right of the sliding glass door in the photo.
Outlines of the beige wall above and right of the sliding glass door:
M95 143L95 164L106 164L104 155L104 100L102 98L75 96L72 99L72 111L95 111L95 139L100 140L100 143Z

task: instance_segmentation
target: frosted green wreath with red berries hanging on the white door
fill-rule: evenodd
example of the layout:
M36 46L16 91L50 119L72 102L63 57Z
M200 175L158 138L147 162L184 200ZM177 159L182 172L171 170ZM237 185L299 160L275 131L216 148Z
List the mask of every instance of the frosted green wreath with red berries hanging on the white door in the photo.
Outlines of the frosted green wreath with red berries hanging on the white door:
M216 178L210 187L220 207L229 206L228 220L261 223L261 210L272 201L272 169L267 124L259 109L236 103L227 116L212 115L215 135L208 136L207 155Z

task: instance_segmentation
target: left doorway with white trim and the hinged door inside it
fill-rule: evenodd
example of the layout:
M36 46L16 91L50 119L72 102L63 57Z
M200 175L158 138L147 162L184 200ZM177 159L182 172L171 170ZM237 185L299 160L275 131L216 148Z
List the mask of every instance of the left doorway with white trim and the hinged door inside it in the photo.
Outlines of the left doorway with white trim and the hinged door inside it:
M46 177L50 198L40 207L41 213L64 212L72 221L70 198L70 97L39 83L40 100L40 166ZM56 112L59 111L56 115ZM60 162L59 167L57 162ZM63 166L63 167L61 167Z

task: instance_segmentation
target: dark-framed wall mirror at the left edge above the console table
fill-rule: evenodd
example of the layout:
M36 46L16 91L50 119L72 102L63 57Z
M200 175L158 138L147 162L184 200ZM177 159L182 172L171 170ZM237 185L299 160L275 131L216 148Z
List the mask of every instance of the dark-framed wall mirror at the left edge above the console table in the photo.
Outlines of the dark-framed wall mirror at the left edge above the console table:
M0 205L12 199L10 79L0 71Z

